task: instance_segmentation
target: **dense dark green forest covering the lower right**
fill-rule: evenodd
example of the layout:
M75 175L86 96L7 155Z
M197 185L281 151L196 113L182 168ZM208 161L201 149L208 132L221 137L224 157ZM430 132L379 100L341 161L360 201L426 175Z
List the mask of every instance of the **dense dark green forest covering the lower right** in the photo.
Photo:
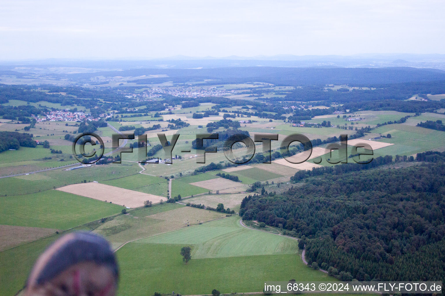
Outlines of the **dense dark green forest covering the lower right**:
M443 280L445 165L434 155L439 162L307 178L280 196L245 197L239 214L303 237L306 260L343 280Z

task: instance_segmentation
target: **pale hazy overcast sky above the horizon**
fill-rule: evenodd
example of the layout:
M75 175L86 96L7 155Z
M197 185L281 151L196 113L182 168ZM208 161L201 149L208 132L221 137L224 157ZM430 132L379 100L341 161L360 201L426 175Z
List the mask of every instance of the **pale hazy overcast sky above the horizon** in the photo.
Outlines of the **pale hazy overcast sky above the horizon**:
M443 0L0 0L0 60L445 53Z

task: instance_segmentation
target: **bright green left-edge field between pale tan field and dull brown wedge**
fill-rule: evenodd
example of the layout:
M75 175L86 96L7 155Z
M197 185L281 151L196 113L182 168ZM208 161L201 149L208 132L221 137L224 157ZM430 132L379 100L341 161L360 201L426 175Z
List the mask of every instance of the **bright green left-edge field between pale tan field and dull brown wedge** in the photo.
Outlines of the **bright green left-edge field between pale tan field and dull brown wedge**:
M51 189L0 197L0 224L69 229L120 213L121 209L120 205Z

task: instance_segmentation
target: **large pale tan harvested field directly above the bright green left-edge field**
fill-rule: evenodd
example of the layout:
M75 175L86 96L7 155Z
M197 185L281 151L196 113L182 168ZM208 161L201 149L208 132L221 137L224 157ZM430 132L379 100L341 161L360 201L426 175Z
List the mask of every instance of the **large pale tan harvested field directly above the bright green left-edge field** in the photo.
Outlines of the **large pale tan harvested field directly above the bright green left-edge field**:
M95 182L67 185L57 188L57 190L98 199L100 201L111 201L113 204L125 205L130 208L141 207L146 200L153 201L154 203L160 200L167 200L166 197L163 196Z

